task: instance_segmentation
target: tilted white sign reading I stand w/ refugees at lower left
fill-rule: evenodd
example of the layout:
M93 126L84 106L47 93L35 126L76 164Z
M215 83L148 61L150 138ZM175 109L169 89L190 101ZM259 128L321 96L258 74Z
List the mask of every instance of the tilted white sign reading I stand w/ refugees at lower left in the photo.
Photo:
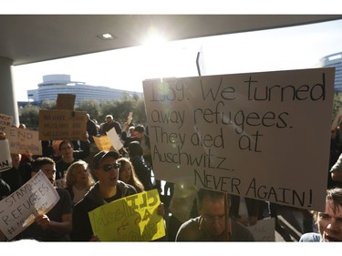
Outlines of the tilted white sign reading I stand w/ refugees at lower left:
M33 223L37 214L46 214L58 200L57 190L40 170L0 201L0 230L8 240L13 239Z

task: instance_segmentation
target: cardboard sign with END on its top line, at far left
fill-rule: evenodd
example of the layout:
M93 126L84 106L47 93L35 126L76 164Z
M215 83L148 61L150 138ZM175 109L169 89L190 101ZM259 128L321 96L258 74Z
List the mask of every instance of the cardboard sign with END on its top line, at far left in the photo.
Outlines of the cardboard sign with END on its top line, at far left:
M42 144L38 139L39 132L26 128L6 128L11 153L42 155Z

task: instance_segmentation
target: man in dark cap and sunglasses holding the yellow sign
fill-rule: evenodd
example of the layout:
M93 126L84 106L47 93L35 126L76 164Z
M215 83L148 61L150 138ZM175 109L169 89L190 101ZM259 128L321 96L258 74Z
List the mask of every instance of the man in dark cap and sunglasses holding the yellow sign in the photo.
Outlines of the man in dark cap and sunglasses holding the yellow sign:
M98 179L83 200L75 206L72 214L72 241L98 241L93 235L88 212L101 205L118 200L137 191L133 186L119 180L119 153L100 151L94 156L94 175Z

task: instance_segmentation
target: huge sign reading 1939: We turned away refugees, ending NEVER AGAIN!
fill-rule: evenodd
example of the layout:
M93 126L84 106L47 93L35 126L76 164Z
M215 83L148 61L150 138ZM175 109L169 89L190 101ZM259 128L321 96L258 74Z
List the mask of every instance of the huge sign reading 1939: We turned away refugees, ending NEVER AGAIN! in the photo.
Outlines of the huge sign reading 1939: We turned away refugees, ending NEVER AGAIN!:
M324 210L335 68L143 82L153 170Z

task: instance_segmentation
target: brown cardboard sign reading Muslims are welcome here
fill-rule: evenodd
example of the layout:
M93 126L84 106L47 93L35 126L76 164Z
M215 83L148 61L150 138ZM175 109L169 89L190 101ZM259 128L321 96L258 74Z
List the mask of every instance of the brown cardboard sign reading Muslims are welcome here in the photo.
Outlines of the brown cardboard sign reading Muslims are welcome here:
M39 110L39 139L83 140L87 132L87 112Z

